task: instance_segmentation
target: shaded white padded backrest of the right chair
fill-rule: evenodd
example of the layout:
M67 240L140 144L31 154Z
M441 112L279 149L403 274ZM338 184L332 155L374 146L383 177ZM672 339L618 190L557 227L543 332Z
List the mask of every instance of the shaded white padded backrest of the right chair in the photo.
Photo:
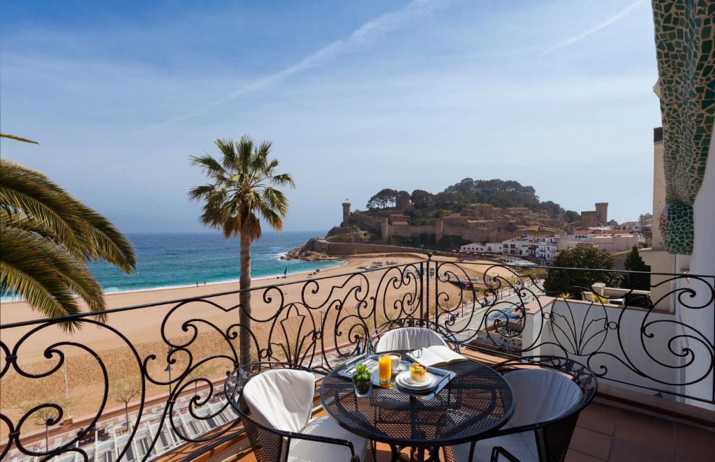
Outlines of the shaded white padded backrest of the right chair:
M517 406L510 426L528 426L565 416L583 398L581 388L566 375L548 369L521 369L504 375Z

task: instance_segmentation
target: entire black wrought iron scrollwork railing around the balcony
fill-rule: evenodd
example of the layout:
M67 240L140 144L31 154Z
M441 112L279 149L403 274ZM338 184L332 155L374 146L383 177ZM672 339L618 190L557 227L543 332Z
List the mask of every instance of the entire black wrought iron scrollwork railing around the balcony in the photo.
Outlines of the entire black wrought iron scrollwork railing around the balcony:
M0 325L0 458L148 460L233 438L222 378L242 333L252 360L330 370L385 323L436 324L463 348L569 356L603 380L715 403L714 287L713 276L430 258L271 280L252 288L250 313L231 291Z

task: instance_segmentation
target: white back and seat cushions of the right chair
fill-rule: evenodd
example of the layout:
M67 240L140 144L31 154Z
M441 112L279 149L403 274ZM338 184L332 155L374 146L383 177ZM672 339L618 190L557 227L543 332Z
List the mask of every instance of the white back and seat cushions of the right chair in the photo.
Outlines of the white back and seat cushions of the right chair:
M514 414L504 428L520 427L568 413L581 401L581 388L568 376L548 369L521 369L504 375L516 401ZM478 441L472 461L488 461L494 446L501 446L519 461L538 461L533 431L513 433ZM469 443L452 446L455 461L468 462Z

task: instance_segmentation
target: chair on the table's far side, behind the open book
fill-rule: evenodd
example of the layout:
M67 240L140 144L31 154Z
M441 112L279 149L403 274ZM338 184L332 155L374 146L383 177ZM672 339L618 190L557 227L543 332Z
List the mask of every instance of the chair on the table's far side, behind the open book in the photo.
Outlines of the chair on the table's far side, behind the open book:
M444 345L459 351L454 335L432 321L402 318L380 325L370 337L374 353L392 350L417 350L433 345Z

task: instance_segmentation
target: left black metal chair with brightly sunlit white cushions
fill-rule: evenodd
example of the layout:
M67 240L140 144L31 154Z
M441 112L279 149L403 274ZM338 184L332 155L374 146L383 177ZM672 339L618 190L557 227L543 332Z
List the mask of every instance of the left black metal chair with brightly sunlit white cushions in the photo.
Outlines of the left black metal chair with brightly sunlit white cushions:
M239 414L258 462L373 459L365 438L330 416L312 417L315 374L290 363L252 363L229 375L227 400Z

